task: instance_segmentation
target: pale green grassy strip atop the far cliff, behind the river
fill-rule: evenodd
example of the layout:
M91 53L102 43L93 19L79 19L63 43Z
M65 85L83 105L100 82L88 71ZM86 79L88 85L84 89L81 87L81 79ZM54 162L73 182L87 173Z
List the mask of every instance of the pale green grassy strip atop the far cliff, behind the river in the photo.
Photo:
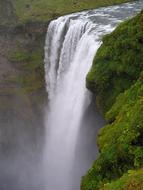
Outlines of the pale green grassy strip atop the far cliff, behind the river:
M84 9L128 2L129 0L13 0L19 22L44 21Z

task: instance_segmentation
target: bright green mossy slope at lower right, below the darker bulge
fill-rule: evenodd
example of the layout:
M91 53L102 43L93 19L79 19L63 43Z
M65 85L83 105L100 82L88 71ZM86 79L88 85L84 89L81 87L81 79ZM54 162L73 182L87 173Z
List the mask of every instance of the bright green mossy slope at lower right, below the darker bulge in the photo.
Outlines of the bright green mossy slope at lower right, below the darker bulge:
M98 145L100 156L83 178L83 190L96 190L105 182L122 176L129 169L143 166L143 81L138 80L120 94L102 128ZM86 185L88 184L88 185ZM91 188L90 185L93 185Z

